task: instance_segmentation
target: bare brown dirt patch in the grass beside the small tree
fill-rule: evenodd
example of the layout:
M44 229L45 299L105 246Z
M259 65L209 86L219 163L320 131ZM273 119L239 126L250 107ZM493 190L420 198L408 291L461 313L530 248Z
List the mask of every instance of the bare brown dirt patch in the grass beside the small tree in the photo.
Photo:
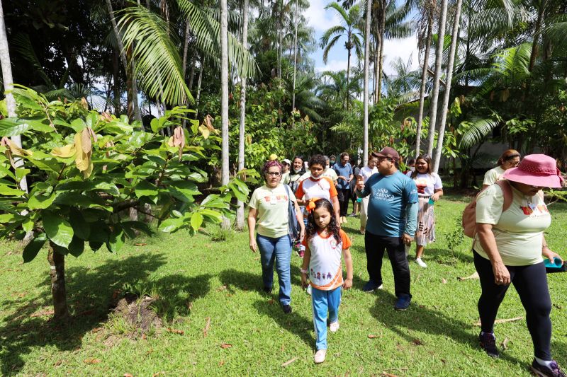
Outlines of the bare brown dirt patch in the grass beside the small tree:
M138 298L135 294L126 294L116 303L113 313L136 330L147 333L163 327L162 319L151 307L155 301L156 298L148 296Z

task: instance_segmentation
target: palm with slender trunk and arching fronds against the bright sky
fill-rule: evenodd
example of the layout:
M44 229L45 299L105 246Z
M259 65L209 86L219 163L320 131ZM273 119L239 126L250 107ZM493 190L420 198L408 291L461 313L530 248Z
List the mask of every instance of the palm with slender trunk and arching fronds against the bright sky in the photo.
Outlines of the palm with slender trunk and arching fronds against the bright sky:
M350 79L350 58L352 55L352 50L354 49L357 57L361 57L363 54L362 43L361 43L361 33L359 27L361 24L361 11L360 5L355 4L349 11L345 11L342 6L337 2L333 1L331 4L325 6L325 10L332 8L339 13L341 19L341 25L336 25L323 33L320 46L323 49L323 62L327 64L327 59L329 57L329 51L332 47L335 47L337 41L341 37L347 37L344 42L344 48L347 49L347 93L344 96L344 108L349 108L349 79Z

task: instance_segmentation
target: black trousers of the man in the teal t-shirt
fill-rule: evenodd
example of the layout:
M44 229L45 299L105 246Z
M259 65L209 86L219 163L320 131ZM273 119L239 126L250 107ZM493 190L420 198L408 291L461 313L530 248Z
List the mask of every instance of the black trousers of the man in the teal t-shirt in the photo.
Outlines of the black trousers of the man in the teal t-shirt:
M370 279L378 286L382 284L382 257L384 250L392 264L394 273L395 296L410 294L410 264L405 257L405 245L401 237L376 236L366 230L364 233L366 248L366 269Z

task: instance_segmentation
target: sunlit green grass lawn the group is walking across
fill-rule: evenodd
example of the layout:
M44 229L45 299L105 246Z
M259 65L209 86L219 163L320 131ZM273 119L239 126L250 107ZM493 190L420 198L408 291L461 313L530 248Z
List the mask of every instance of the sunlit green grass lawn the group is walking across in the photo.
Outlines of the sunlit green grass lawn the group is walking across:
M478 347L480 286L478 280L456 279L474 272L470 240L465 238L454 253L447 248L447 235L465 205L461 200L446 196L436 204L437 243L426 250L427 269L410 263L413 300L406 312L393 310L389 262L383 265L383 291L361 291L367 279L364 239L358 219L349 218L344 228L353 240L354 286L343 293L340 329L330 333L327 361L320 365L313 364L315 335L310 296L300 287L301 259L292 257L293 313L284 315L277 286L274 294L261 292L259 255L249 250L247 233L234 233L223 242L213 242L207 234L157 234L130 241L118 254L103 248L78 259L68 257L73 320L67 326L49 320L45 250L23 265L21 254L13 252L16 245L5 243L0 245L1 373L529 376L533 351L524 320L495 326L498 343L506 340L500 359L490 359ZM549 209L554 219L547 233L549 245L567 257L567 205ZM142 336L122 320L108 318L113 295L128 283L159 296L156 306L169 320L166 327L174 331L164 328ZM549 275L549 287L554 303L552 352L567 369L567 274ZM511 288L498 318L524 314Z

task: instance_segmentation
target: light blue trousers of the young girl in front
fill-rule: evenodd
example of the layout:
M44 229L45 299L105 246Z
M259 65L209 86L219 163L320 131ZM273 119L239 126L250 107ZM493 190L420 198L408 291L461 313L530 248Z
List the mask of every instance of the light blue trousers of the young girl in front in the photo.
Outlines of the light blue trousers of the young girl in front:
M315 348L327 349L327 311L329 323L339 320L339 304L341 303L341 287L332 291L311 289L311 303L313 304L313 327L315 327Z

